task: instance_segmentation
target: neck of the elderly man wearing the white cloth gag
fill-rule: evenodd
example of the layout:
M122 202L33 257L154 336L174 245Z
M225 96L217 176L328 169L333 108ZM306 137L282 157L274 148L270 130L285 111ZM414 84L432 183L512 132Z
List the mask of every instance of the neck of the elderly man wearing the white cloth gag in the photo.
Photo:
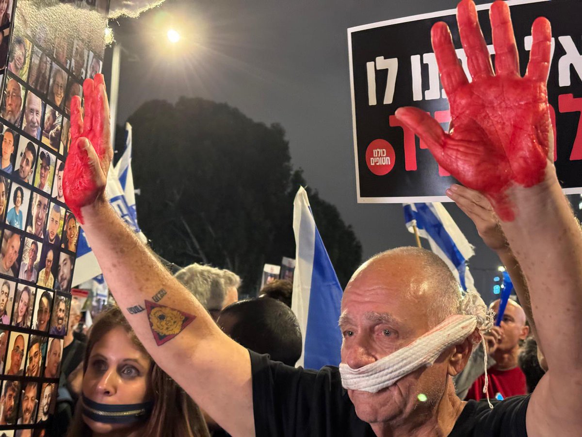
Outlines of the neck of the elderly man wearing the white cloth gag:
M455 394L455 386L448 379L445 393L437 406L430 410L417 409L403 422L381 422L371 424L378 437L435 437L447 436L455 427L455 423L463 411L466 402Z

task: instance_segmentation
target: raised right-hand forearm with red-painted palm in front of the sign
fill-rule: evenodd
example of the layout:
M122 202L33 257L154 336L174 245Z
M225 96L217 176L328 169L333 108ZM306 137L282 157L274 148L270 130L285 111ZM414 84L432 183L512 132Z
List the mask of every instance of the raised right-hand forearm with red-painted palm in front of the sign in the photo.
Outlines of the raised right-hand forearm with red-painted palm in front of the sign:
M396 117L427 143L443 168L488 198L526 277L549 367L531 396L527 434L576 435L582 427L582 234L548 160L551 29L545 18L535 20L530 62L520 77L508 6L496 1L490 17L495 74L474 3L463 0L457 8L471 83L446 24L432 29L450 103L449 132L417 108L400 108Z

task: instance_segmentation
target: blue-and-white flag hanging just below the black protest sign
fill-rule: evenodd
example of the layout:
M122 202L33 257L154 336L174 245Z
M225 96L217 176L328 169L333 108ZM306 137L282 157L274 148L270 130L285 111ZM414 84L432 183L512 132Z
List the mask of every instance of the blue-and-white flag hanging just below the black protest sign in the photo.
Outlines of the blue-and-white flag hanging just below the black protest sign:
M442 203L404 203L406 227L428 239L431 251L441 258L455 275L463 290L475 290L473 276L467 260L475 255L474 247L467 241Z

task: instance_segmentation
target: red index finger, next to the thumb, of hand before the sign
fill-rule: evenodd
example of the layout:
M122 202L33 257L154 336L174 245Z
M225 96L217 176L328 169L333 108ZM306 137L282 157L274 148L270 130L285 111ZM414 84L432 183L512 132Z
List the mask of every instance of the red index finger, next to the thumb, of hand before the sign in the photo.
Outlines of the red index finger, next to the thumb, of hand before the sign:
M439 22L431 30L432 50L437 57L442 86L448 96L452 96L457 88L469 83L455 52L455 46L450 36L449 27Z

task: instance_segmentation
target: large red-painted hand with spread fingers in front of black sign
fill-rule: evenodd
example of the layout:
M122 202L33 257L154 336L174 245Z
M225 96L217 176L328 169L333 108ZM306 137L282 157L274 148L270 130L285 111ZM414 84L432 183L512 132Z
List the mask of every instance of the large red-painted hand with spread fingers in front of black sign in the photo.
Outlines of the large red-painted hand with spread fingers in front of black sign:
M441 22L432 27L432 47L450 105L449 133L418 108L400 108L396 117L427 143L445 170L463 185L484 193L502 220L513 220L507 189L514 184L539 184L549 162L552 124L546 81L551 28L545 18L535 20L530 63L521 77L509 7L496 1L490 17L496 74L475 4L463 0L457 6L471 83L457 59L448 26Z

